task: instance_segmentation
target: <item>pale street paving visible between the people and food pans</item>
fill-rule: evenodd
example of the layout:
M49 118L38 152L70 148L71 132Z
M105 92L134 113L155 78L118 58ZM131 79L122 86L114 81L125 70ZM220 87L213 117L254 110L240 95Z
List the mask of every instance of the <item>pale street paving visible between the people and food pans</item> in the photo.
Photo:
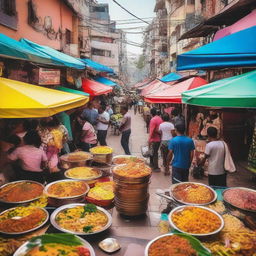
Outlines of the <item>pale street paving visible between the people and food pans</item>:
M134 115L133 111L130 111L132 115L132 133L130 138L130 150L133 155L141 156L142 145L147 144L148 134L146 133L145 123L140 114ZM120 144L120 136L114 135L113 131L109 131L107 137L107 143L109 146L114 148L114 154L120 155L124 154L124 151ZM161 160L160 160L161 161ZM190 180L194 180L190 177ZM207 177L204 179L195 180L197 182L202 182L207 184ZM111 234L120 237L130 237L135 239L135 243L143 240L151 240L156 236L160 235L158 224L161 218L161 211L166 208L167 201L156 195L157 190L168 190L171 185L170 177L164 176L163 171L159 173L153 173L151 177L151 183L149 188L150 200L148 211L145 216L139 218L127 218L120 216L116 209L111 210L113 217L113 225L111 227ZM245 186L255 188L255 183L251 180L248 171L242 168L238 168L235 174L229 175L228 185L231 186ZM144 243L142 243L144 244ZM127 246L126 246L127 247ZM138 250L142 250L138 248ZM126 248L125 248L126 250ZM142 251L140 251L142 253ZM143 255L138 253L138 255ZM115 255L124 255L120 252ZM133 252L125 254L125 256L136 256Z

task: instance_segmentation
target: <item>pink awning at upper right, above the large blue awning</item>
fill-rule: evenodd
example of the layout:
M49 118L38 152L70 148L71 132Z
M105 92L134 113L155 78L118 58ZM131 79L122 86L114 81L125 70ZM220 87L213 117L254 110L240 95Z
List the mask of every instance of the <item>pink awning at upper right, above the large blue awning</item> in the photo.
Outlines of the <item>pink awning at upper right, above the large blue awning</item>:
M216 41L222 37L234 34L238 31L250 28L252 26L256 26L256 9L253 10L250 14L246 15L241 20L234 23L233 25L217 31L213 38L213 41Z

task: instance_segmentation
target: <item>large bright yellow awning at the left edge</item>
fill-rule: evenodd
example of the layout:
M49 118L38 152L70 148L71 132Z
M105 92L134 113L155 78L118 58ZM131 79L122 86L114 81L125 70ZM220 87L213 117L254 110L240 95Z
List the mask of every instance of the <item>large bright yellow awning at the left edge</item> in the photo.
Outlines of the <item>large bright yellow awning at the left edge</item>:
M0 78L0 118L38 118L83 106L89 98Z

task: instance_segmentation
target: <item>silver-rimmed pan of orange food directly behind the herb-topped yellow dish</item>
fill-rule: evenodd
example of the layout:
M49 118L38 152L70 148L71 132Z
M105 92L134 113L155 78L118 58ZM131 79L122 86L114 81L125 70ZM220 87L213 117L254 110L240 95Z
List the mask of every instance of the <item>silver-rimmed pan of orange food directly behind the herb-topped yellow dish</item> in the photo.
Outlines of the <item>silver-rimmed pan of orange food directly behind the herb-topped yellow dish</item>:
M89 191L89 186L84 181L79 180L59 180L49 183L44 191L50 198L71 199L84 197Z

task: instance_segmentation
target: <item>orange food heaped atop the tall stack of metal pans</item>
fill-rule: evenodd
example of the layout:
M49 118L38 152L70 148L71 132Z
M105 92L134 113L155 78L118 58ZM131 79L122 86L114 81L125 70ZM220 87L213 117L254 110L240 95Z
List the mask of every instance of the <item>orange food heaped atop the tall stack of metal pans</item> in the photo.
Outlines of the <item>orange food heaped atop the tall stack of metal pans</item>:
M150 175L151 169L144 163L129 163L117 166L113 172L123 177L141 178Z

